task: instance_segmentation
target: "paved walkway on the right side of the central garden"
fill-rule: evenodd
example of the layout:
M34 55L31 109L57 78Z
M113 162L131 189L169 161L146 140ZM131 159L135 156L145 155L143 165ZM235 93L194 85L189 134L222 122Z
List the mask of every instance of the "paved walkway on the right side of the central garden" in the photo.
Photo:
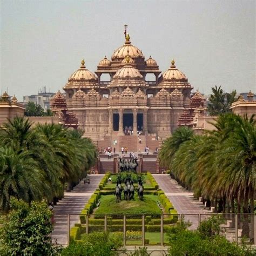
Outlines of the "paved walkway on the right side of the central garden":
M198 214L210 213L210 211L206 210L205 206L193 197L193 192L185 190L176 180L171 179L169 174L153 174L153 177L179 214L191 214L185 215L185 220L192 222L190 229L196 229L199 220Z

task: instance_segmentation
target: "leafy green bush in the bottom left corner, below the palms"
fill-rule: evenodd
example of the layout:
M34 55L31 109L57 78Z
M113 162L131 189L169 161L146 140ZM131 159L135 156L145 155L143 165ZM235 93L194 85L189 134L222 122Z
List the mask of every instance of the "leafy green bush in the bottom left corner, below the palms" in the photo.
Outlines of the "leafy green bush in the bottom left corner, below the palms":
M51 243L51 211L46 203L10 200L11 212L3 225L1 238L6 255L57 255Z

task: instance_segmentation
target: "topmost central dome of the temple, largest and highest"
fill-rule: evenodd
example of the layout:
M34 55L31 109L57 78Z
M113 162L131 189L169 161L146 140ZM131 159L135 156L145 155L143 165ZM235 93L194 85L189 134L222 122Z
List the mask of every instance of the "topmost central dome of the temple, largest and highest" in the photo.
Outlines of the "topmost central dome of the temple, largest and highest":
M132 58L144 57L142 51L131 44L129 35L126 36L124 45L114 51L111 58L125 58L127 55Z

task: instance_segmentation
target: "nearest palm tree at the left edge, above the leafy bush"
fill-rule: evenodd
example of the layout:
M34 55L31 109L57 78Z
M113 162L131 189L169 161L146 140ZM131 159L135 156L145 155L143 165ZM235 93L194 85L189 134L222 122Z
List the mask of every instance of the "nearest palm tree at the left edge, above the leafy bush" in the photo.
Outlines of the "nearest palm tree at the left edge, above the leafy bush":
M42 199L42 172L28 151L0 147L0 208L9 210L10 197L30 203Z

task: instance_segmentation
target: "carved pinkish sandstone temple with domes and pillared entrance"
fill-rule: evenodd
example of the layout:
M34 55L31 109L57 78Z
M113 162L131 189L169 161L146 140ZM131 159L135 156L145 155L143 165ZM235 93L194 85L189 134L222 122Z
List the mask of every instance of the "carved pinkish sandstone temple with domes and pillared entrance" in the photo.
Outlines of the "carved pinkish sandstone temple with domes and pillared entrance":
M122 135L125 126L133 127L134 134L143 129L143 134L165 138L176 129L184 110L190 112L192 87L174 60L161 74L156 60L151 56L145 60L129 35L111 60L104 57L99 62L95 73L97 76L86 69L82 60L80 69L63 87L66 109L58 108L57 97L52 102L56 114L75 114L78 128L93 140L102 140L113 132ZM110 81L100 79L106 73ZM149 73L156 77L154 81L146 80Z

